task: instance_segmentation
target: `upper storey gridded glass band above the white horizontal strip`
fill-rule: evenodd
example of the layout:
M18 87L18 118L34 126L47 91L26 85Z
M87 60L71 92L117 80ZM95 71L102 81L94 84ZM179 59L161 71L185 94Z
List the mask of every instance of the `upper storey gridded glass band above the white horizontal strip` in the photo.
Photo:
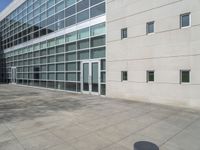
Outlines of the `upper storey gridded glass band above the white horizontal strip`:
M104 0L27 0L0 22L2 48L10 48L105 14Z

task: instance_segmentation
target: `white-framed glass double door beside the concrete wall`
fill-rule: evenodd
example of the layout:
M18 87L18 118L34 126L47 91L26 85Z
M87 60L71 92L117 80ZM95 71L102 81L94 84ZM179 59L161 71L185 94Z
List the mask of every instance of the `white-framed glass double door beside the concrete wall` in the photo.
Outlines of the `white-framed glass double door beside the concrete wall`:
M86 94L100 94L100 62L81 63L81 91Z

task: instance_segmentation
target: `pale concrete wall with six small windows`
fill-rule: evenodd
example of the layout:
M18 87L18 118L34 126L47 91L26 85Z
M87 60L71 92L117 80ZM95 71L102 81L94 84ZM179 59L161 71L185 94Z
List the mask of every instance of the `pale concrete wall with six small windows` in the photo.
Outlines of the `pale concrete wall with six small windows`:
M199 8L199 0L107 0L107 96L200 108ZM191 27L180 29L187 12ZM146 35L149 21L155 34ZM180 84L181 69L191 70L189 84ZM146 82L147 70L155 70L154 83Z

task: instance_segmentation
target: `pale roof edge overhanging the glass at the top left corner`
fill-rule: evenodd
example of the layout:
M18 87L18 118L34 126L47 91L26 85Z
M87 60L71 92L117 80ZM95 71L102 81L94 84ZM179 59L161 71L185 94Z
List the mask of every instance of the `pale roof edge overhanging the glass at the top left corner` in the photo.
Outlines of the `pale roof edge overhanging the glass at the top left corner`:
M19 7L26 0L13 0L1 13L0 21L6 18L10 13L12 13L17 7Z

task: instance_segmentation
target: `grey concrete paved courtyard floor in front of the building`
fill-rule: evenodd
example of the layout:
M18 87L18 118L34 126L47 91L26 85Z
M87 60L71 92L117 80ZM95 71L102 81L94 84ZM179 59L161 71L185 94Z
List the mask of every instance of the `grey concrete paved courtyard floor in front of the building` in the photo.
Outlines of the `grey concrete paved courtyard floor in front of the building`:
M0 150L200 150L200 111L0 85Z

